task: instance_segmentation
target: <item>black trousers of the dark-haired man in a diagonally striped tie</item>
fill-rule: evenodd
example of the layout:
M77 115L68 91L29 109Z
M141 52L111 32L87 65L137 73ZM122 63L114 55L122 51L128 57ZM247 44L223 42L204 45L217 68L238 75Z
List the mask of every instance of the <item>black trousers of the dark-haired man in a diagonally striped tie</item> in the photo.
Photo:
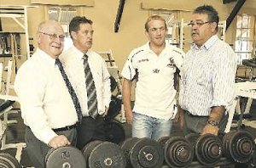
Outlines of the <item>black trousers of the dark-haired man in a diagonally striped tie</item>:
M106 140L105 136L105 120L102 117L96 119L85 116L82 122L77 126L78 142L77 148L82 149L84 145L93 140Z

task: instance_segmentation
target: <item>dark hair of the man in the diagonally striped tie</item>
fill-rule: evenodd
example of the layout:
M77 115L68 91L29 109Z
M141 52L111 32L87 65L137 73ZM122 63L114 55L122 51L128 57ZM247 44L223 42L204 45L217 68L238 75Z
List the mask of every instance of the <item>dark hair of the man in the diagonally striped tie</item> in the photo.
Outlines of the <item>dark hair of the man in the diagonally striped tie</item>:
M80 28L79 25L80 24L90 24L90 25L92 25L92 23L93 22L91 20L85 18L84 16L74 17L69 23L69 34L70 34L70 36L71 36L71 31L75 31L75 32L79 31L79 28Z

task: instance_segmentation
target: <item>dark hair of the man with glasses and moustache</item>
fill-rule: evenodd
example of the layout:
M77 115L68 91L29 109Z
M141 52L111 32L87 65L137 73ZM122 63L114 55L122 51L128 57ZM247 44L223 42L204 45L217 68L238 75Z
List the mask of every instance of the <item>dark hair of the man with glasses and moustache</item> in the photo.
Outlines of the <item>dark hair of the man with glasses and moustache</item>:
M200 7L197 7L193 11L193 14L207 14L209 22L216 22L217 26L215 30L218 31L218 12L211 5L202 5Z

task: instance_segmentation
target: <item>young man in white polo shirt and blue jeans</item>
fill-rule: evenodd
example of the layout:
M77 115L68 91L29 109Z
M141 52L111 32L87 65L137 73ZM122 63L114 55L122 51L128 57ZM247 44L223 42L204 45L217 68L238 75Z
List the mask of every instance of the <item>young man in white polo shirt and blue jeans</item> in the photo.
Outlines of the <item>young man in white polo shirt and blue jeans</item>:
M166 21L150 16L145 24L148 41L131 51L122 70L125 117L132 137L158 140L170 136L177 111L174 73L183 63L183 51L166 43ZM131 109L131 82L137 78L136 101Z

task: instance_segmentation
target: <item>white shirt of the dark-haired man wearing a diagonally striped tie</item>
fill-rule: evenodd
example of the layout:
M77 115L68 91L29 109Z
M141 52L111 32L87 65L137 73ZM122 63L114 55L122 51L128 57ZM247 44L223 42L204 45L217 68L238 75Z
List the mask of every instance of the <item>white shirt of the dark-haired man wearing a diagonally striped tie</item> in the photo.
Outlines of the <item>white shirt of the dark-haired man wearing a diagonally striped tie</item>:
M95 52L88 51L88 63L96 87L96 97L98 113L102 114L105 107L108 108L111 98L109 73L105 60ZM77 93L83 115L88 116L87 91L85 86L84 75L84 53L72 46L63 52L60 56L64 70Z

